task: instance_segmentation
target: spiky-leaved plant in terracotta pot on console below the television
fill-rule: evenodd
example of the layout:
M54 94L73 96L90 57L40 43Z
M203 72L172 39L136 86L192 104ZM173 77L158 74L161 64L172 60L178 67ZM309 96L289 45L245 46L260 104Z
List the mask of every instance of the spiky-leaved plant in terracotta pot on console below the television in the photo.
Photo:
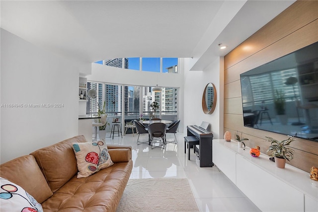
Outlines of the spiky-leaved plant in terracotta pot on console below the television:
M294 158L295 150L289 147L290 143L295 141L294 137L290 137L282 141L277 141L271 137L266 138L267 141L271 142L267 153L270 157L275 158L275 164L277 167L285 168L286 160L291 161Z

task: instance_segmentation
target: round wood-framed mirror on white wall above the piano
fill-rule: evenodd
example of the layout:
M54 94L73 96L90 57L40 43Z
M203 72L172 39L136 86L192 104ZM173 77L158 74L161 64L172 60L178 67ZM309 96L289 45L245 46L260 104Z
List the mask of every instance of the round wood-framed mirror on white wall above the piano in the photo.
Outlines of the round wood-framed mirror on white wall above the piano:
M213 83L207 84L202 96L202 109L205 114L212 114L217 103L217 92Z

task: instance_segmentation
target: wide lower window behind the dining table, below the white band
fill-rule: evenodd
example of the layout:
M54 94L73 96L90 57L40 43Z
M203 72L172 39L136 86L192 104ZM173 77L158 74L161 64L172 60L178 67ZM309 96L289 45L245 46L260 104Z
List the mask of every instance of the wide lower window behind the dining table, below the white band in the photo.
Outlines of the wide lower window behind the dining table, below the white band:
M88 99L86 113L94 114L97 113L99 106L104 107L109 118L108 122L114 118L122 118L122 114L124 120L128 121L139 119L140 114L143 115L144 119L156 116L165 120L176 120L178 117L178 88L163 87L161 92L154 92L149 86L126 86L96 82L87 82L87 86L88 90L96 89L97 97ZM159 105L156 113L150 106L153 102L157 102Z

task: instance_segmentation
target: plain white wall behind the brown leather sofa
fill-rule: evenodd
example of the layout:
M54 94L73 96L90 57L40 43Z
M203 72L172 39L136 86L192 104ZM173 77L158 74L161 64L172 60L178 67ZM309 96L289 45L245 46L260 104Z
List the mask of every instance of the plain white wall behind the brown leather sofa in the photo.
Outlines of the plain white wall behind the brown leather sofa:
M89 69L1 29L1 163L78 134L79 71Z

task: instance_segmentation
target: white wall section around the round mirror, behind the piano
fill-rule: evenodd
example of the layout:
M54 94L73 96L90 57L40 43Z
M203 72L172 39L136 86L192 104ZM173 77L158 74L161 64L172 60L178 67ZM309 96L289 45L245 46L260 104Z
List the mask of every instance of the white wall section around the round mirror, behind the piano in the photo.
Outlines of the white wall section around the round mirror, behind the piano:
M210 123L209 131L214 139L223 138L224 66L223 58L212 61L203 71L189 71L191 59L185 60L184 70L184 132L186 126ZM205 86L212 82L217 90L215 111L208 115L202 110L202 95Z

